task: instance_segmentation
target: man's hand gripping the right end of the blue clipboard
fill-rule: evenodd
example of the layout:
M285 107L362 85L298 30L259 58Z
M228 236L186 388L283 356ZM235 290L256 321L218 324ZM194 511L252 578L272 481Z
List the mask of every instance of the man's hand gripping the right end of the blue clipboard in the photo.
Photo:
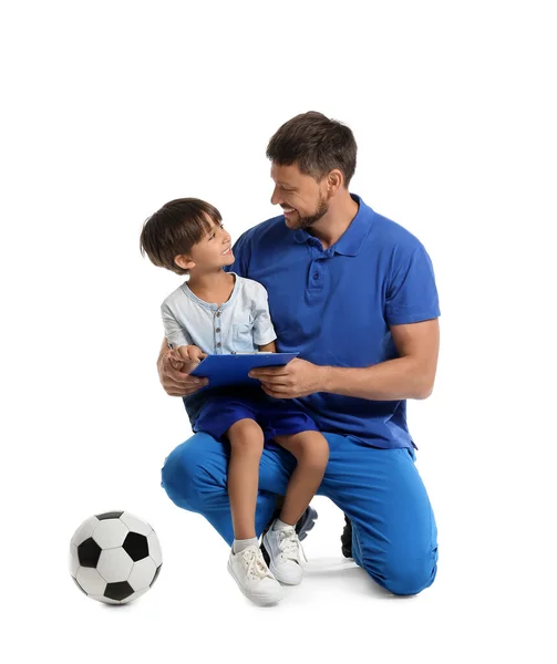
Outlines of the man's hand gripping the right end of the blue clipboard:
M262 391L276 398L298 398L324 392L326 366L295 357L285 366L260 366L249 376L261 382Z

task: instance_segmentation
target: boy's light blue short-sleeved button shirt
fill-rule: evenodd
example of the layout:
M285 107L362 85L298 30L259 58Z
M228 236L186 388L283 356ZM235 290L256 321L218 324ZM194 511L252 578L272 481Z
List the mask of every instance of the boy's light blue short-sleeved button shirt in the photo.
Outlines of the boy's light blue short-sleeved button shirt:
M196 345L204 353L248 353L277 339L264 286L235 272L230 298L220 305L195 295L187 282L161 305L164 331L173 347Z

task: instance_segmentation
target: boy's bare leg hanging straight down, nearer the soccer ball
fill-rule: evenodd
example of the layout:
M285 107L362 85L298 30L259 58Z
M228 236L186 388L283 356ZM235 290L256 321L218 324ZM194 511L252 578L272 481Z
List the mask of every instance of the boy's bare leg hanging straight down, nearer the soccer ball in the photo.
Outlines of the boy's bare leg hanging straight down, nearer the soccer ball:
M226 436L230 442L227 486L234 536L237 540L254 539L264 433L254 419L239 419Z

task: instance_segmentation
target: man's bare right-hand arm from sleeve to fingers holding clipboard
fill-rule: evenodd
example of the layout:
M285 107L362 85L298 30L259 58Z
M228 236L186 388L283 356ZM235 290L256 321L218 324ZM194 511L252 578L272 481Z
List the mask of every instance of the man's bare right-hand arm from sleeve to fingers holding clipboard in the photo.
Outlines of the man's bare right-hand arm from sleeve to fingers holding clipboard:
M281 367L254 369L264 391L277 398L330 392L372 401L426 398L433 390L439 356L439 320L392 325L400 357L363 369L318 366L298 357Z

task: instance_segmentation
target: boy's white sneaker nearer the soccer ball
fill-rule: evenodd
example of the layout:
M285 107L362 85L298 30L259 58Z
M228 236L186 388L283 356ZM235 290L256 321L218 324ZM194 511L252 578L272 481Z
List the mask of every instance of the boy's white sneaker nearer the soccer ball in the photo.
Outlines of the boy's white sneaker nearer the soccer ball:
M266 606L282 599L282 588L269 572L259 547L247 547L239 553L230 550L228 571L241 592L255 604Z

